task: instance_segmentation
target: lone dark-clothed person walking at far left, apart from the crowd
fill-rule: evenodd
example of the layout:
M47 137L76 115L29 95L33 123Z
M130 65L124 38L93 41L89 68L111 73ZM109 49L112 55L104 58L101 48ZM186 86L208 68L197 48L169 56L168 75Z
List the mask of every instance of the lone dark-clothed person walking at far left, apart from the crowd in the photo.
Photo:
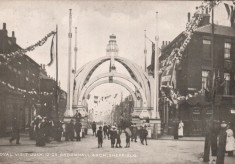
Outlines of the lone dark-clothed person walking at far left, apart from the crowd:
M20 125L16 117L12 120L12 136L9 139L9 142L12 143L13 140L16 140L16 144L20 144Z

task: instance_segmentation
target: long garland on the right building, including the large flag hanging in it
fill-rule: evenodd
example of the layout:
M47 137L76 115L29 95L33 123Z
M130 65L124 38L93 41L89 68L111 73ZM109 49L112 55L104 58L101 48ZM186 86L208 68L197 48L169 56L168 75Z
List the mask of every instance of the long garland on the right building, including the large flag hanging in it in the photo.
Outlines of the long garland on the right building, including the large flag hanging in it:
M161 89L167 90L168 97L167 100L170 101L170 104L178 104L180 101L184 101L189 99L190 97L197 96L198 94L202 94L203 90L197 91L194 93L194 96L188 94L186 96L181 96L179 93L174 91L174 81L175 81L175 67L179 65L183 58L183 52L185 51L187 45L189 44L193 32L198 28L199 23L203 18L204 10L208 10L209 12L215 6L217 6L221 1L204 1L197 8L190 22L186 25L186 30L183 32L185 35L185 39L182 41L182 44L179 48L174 48L170 55L161 62L161 68L159 74L161 75ZM165 84L164 84L165 83Z

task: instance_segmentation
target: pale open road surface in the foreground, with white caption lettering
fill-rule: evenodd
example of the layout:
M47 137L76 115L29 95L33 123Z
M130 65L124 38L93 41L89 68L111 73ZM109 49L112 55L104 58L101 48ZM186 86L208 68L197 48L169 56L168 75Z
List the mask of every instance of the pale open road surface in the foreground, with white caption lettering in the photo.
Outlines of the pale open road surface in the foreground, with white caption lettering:
M9 138L0 138L0 163L82 163L82 164L194 164L202 162L203 138L183 137L173 140L171 136L148 140L148 145L131 142L124 148L125 135L121 135L123 148L111 148L110 140L104 139L103 147L97 148L97 138L88 135L82 141L62 141L36 147L35 141L21 134L21 144L10 144ZM194 139L194 140L193 140ZM225 158L225 164L234 164L235 157Z

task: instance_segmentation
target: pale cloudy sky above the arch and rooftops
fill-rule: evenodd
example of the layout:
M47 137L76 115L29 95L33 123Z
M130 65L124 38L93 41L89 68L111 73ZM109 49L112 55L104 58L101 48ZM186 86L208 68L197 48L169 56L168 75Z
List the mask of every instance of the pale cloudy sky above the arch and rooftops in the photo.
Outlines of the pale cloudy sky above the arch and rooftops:
M26 48L55 30L58 25L59 81L62 89L67 91L69 9L72 9L72 56L74 28L78 28L78 68L90 60L106 55L106 46L111 34L117 36L119 56L144 68L144 30L154 41L157 24L159 46L162 41L172 41L185 30L187 13L191 12L192 15L196 6L200 4L201 1L1 0L0 28L5 22L8 35L11 36L11 31L15 31L18 45ZM229 25L222 3L215 9L215 23ZM45 45L27 55L39 64L48 64L50 44L51 38ZM150 64L150 42L147 42L147 51L147 64ZM55 63L51 67L46 67L46 70L55 78ZM113 92L118 92L120 86L112 89ZM96 92L99 93L101 90L102 87ZM106 90L110 92L107 87Z

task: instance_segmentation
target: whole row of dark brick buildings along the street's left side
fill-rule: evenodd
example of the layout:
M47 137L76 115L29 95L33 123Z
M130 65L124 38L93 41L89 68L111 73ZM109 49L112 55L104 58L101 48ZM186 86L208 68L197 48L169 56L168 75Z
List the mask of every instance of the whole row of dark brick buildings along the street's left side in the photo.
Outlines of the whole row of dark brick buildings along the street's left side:
M18 55L7 62L7 54L21 49L16 43L14 31L11 37L7 33L6 23L3 23L0 30L0 135L11 131L14 117L25 130L38 114L49 118L56 115L55 80L48 77L45 65L40 66L27 55ZM62 119L66 109L66 92L57 88L58 111Z

